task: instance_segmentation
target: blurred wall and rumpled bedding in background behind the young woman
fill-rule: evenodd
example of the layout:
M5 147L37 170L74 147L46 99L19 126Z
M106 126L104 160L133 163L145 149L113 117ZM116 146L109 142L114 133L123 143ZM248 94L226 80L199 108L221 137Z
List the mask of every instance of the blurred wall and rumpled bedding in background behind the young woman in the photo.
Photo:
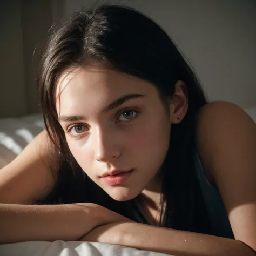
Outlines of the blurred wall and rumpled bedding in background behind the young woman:
M256 0L111 2L152 17L190 61L208 98L238 104L256 122ZM73 10L93 3L1 0L0 167L1 156L6 159L11 151L15 157L43 129L36 73L49 29Z

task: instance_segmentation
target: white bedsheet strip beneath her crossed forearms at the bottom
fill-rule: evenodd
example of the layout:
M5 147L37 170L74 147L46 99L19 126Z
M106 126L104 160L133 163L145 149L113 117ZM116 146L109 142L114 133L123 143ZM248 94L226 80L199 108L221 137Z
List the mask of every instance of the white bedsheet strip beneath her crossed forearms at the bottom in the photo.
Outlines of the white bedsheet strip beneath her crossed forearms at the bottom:
M80 241L31 241L0 245L1 256L166 256L134 248Z

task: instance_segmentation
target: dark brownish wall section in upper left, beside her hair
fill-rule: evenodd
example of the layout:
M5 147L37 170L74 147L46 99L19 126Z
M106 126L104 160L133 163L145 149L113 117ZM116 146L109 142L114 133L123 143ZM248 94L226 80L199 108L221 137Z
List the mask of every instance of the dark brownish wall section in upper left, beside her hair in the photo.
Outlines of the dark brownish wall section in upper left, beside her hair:
M62 0L4 0L0 11L0 117L36 113L37 67Z

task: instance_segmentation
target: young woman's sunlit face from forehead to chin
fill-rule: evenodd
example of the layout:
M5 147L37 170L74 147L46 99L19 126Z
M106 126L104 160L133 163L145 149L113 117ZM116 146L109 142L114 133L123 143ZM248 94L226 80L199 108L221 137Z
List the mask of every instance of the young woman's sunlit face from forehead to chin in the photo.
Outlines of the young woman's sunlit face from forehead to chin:
M156 87L90 67L63 75L57 96L70 151L98 186L118 201L159 188L171 117Z

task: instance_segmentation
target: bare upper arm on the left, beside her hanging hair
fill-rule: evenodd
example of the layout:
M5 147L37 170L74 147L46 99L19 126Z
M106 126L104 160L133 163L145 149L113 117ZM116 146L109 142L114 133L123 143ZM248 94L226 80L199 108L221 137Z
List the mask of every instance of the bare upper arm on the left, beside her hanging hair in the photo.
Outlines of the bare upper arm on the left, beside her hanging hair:
M0 170L0 202L31 204L43 200L56 183L59 160L44 130Z

